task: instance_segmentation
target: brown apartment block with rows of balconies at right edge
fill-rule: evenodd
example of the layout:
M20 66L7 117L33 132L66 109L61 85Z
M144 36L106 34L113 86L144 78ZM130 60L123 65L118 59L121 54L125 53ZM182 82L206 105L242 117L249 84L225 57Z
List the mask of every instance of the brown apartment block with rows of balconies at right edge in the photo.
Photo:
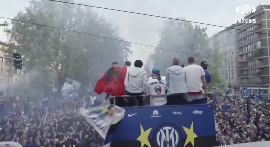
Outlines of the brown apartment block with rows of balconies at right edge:
M235 32L237 82L239 86L247 86L248 92L268 93L270 85L270 5L257 8L245 18L256 18L256 24L237 24L242 30ZM248 32L254 31L254 32ZM257 33L258 32L258 33ZM266 34L262 34L266 33Z

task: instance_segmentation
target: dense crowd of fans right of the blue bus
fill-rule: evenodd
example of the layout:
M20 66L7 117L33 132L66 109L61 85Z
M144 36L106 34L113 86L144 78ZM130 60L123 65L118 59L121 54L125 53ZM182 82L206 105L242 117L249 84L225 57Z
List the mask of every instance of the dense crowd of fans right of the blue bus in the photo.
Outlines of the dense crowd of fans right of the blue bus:
M232 145L270 140L268 102L267 98L257 100L236 95L227 96L224 100L218 99L215 114L218 144ZM222 112L220 106L225 104L231 105L229 112Z

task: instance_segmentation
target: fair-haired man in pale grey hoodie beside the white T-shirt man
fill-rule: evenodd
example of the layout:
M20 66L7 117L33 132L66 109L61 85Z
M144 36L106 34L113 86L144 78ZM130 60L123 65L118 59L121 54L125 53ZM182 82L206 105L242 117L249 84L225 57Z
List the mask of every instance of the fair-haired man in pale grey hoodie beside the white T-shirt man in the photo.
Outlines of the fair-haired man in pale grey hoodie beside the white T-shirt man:
M168 105L183 105L187 96L184 68L179 66L179 59L173 58L173 66L166 70L166 84L170 95L167 96Z

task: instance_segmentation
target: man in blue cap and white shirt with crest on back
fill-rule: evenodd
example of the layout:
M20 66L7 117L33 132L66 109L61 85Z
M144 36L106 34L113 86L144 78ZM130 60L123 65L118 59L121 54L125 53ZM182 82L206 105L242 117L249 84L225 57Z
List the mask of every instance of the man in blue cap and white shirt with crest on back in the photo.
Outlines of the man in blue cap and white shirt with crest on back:
M153 67L152 69L152 79L147 81L148 85L148 96L150 95L165 95L165 91L167 90L167 85L165 81L161 79L159 74L159 68ZM151 96L150 97L150 106L160 106L166 105L167 99L166 96Z

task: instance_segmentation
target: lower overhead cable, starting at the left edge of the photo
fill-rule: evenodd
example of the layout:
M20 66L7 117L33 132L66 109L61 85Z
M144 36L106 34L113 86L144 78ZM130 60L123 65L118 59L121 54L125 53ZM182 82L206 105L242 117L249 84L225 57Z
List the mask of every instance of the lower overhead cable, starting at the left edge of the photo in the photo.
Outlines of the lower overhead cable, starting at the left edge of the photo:
M44 24L38 24L38 23L34 23L34 22L27 22L27 21L22 21L22 20L17 20L17 19L8 18L8 17L2 17L2 16L0 16L0 18L9 19L9 20L12 20L12 21L18 21L18 22L30 23L30 24L33 24L33 25L39 25L39 26L43 26L43 27L50 27L50 28L54 28L54 29L60 29L60 30L69 31L69 32L81 33L81 34L90 35L90 36L95 36L95 37L101 37L101 38L106 38L106 39L111 39L111 40L117 40L117 41L121 41L121 42L128 42L128 43L131 43L131 44L137 44L137 45L146 46L146 47L153 47L153 48L158 48L158 49L167 50L167 51L174 51L174 52L183 53L183 54L189 54L189 55L194 55L194 56L200 56L200 55L191 54L191 53L187 53L187 52L183 52L183 51L176 51L176 50L171 50L171 49L163 48L163 47L155 47L155 46L150 46L150 45L146 45L146 44L142 44L142 43L129 42L129 41L120 40L120 39L115 39L115 38L111 38L111 37L99 36L99 35L94 35L94 34L85 33L85 32L78 32L78 31L73 31L73 30L70 30L70 29L64 29L64 28L60 28L60 27L53 27L53 26L48 26L48 25L44 25ZM216 58L211 58L211 57L207 57L207 56L201 56L201 57L204 57L204 58L210 58L210 59L214 59L214 60L224 61L224 60L222 60L222 59L216 59Z

